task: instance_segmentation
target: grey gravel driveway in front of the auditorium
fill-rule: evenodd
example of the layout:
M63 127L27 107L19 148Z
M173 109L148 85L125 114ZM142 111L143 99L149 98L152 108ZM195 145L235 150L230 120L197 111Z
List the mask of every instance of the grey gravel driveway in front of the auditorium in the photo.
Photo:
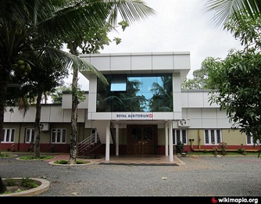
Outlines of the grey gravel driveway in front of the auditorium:
M179 157L180 166L89 164L0 159L1 178L46 178L40 196L261 196L256 156Z

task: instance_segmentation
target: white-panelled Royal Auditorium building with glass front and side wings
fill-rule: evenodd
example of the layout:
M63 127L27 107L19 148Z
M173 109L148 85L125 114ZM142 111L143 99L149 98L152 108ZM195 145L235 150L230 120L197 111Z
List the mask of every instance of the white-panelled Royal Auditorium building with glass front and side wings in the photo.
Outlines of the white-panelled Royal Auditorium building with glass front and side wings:
M251 137L231 130L226 111L208 102L208 90L183 91L190 71L190 52L87 54L81 55L106 77L109 86L92 72L82 72L89 81L86 100L78 105L78 142L95 148L83 153L106 155L166 155L173 160L182 151L240 148L257 150ZM86 83L87 83L86 82ZM2 150L30 150L34 139L35 108L23 117L18 109L4 115ZM71 95L62 104L42 104L42 152L68 152ZM94 140L90 139L93 136Z

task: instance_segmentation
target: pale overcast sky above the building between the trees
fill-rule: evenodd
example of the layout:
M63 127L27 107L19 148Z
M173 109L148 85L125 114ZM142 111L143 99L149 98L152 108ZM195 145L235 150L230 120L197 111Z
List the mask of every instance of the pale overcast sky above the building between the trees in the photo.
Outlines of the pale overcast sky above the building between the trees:
M239 49L239 41L233 35L212 22L214 12L205 13L206 0L146 0L156 15L131 24L123 32L121 28L110 33L110 39L121 38L119 45L112 41L101 53L130 52L190 52L192 78L194 70L201 68L208 57L225 58L229 49ZM83 90L80 75L79 84ZM69 81L71 83L71 81Z

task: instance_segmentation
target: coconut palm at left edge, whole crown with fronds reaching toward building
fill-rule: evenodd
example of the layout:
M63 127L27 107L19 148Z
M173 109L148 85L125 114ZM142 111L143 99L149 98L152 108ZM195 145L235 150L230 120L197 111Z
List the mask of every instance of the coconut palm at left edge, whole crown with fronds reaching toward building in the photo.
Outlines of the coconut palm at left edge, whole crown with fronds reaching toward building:
M67 36L97 28L105 23L115 25L117 14L127 22L135 22L154 13L143 1L101 0L0 0L0 137L3 135L3 111L8 84L15 76L16 64L23 60L32 65L44 58L60 61L67 67L94 72L101 81L105 77L92 65L74 54L62 52L53 41L66 42ZM104 20L107 19L107 22ZM35 60L31 61L32 56ZM1 138L0 138L1 139ZM1 145L1 144L0 144ZM1 146L0 146L1 153Z

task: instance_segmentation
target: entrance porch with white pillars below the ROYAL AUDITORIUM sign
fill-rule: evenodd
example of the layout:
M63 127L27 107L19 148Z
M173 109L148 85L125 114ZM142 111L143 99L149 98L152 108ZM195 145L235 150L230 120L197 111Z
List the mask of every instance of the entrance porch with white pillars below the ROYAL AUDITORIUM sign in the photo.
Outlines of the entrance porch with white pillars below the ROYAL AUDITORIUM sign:
M100 121L101 122L101 121ZM105 121L103 121L105 122ZM110 144L111 127L115 127L115 155L119 156L119 127L126 126L127 132L127 155L146 157L151 155L158 155L158 124L145 123L131 123L130 121L106 121L106 161L110 161ZM111 126L111 123L113 125ZM173 121L157 121L160 126L165 129L165 156L169 156L169 162L174 161L173 150L173 135L172 123ZM101 124L101 123L100 123ZM104 124L104 123L103 123ZM103 126L104 127L104 126ZM99 128L98 128L99 132ZM102 139L101 139L102 140Z

